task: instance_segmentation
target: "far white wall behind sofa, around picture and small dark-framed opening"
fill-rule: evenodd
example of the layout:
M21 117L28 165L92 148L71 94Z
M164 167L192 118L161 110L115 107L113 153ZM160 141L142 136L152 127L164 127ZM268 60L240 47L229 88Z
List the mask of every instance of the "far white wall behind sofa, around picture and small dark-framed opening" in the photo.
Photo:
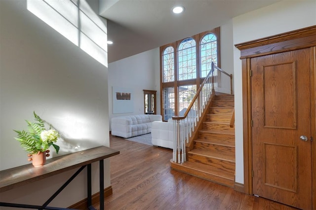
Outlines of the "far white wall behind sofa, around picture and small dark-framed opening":
M116 116L144 114L144 91L157 91L157 114L160 114L159 48L155 48L109 64L109 114ZM112 88L131 89L134 94L134 111L113 113ZM111 126L111 120L110 120ZM111 130L111 128L110 128Z

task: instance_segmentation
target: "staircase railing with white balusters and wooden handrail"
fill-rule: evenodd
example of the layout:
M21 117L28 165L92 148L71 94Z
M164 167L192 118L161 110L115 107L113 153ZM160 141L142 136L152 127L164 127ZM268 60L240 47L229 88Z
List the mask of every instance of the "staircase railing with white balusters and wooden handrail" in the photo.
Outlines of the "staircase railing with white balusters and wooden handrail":
M232 94L232 74L221 70L212 62L211 70L199 86L196 95L188 106L184 116L173 116L173 162L187 161L186 143L192 137L197 122L214 92Z

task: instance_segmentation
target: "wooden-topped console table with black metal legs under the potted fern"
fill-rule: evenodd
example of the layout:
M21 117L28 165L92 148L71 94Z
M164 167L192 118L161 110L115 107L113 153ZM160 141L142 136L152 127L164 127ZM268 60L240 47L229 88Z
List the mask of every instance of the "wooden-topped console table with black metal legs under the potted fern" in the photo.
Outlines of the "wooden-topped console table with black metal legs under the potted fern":
M91 163L99 161L100 167L100 210L104 209L104 159L119 154L119 151L106 146L74 152L71 154L47 159L44 166L32 164L0 171L0 193L37 180L57 175L75 168L79 170L70 177L56 193L43 205L26 205L0 202L3 207L29 208L39 210L65 210L65 208L47 207L47 205L85 168L87 167L87 208L94 210L91 198Z

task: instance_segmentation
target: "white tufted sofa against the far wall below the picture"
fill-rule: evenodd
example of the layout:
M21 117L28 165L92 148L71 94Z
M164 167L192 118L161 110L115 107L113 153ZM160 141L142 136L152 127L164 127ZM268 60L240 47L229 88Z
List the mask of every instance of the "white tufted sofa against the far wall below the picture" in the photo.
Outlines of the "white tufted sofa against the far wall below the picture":
M118 137L130 138L151 133L152 123L161 121L162 116L158 114L138 114L111 119L111 134Z

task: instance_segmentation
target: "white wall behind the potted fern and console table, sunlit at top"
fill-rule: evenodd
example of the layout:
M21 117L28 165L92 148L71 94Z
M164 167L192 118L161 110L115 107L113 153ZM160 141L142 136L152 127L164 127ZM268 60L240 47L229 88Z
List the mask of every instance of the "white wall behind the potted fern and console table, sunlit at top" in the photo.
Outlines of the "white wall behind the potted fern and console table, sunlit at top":
M85 6L94 11L91 19L100 19L98 0ZM106 27L104 19L100 23ZM27 0L0 0L0 170L30 164L13 129L26 130L24 119L33 120L33 111L60 132L59 155L109 146L107 82L107 67L31 13ZM98 167L92 169L95 193ZM105 161L105 187L110 186L109 170ZM0 201L40 205L73 172L6 191ZM86 198L85 179L86 173L80 174L50 206L68 207Z

